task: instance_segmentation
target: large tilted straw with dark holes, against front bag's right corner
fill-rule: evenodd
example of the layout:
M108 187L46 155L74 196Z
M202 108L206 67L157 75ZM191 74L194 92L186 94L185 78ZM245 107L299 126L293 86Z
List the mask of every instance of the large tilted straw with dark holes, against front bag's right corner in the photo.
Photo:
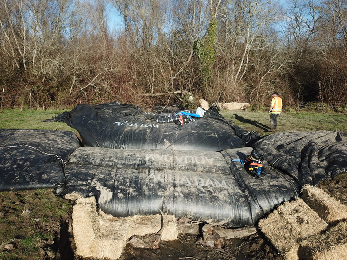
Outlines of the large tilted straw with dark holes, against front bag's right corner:
M299 241L327 228L327 223L319 218L301 199L285 202L266 219L258 223L260 230L284 255L294 255Z

